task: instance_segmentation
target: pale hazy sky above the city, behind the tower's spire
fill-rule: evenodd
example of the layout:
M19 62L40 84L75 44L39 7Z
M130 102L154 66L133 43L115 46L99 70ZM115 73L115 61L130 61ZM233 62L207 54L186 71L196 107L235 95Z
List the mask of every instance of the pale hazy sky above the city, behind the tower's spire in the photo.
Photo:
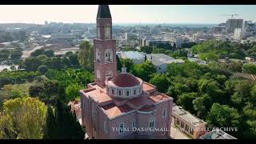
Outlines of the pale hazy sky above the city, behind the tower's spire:
M0 23L95 23L98 5L2 5ZM113 23L218 24L231 16L256 22L256 5L110 5Z

